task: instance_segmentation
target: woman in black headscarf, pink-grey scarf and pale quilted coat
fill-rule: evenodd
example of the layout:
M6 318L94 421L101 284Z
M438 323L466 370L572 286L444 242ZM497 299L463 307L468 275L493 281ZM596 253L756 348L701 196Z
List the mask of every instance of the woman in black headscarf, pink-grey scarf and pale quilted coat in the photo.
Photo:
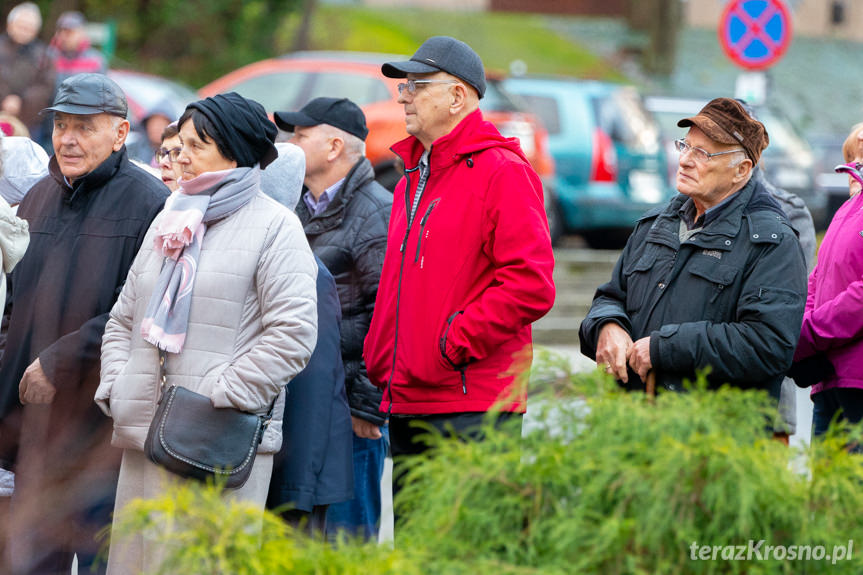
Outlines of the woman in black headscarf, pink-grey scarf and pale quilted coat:
M215 408L272 411L250 478L226 490L263 508L284 385L317 339L314 256L297 217L260 187L277 156L275 125L260 104L230 93L190 104L178 127L180 187L148 231L102 344L96 402L123 449L116 513L186 481L143 452L161 373ZM108 572L153 572L163 551L144 534L114 540Z

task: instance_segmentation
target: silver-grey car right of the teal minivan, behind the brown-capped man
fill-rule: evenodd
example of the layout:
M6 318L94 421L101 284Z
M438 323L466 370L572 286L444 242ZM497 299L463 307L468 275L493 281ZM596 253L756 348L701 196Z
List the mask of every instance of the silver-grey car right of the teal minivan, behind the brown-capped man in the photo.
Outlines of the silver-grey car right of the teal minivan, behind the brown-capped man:
M686 128L677 127L682 118L694 116L708 102L701 98L649 96L647 109L662 128L665 145L686 135ZM764 124L770 145L761 155L761 167L775 186L800 196L812 213L816 229L827 226L827 197L815 186L815 157L809 143L797 132L790 120L778 109L766 105L752 106L758 120ZM677 154L669 170L677 169Z

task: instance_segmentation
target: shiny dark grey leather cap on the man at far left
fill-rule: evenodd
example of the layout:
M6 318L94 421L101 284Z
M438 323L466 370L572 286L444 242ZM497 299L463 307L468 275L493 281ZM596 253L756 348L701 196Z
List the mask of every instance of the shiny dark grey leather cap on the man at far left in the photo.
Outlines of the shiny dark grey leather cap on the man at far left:
M126 95L120 86L104 74L76 74L63 80L57 88L54 105L42 110L64 114L106 113L125 118L129 112Z

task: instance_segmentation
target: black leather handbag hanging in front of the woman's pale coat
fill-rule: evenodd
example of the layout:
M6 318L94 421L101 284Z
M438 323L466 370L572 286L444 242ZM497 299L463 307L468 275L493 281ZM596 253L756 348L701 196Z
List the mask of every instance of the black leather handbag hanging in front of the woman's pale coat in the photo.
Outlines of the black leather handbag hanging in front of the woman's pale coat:
M187 479L223 481L229 489L249 479L258 444L270 423L267 415L216 408L209 397L185 387L165 388L165 358L160 353L162 397L150 423L144 453Z

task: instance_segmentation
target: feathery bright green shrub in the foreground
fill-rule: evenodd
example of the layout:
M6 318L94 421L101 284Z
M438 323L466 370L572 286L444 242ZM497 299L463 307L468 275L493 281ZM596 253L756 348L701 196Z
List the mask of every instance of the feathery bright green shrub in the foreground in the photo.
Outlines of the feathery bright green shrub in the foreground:
M481 443L429 434L396 505L397 547L337 549L190 487L139 502L121 531L160 529L181 545L166 572L422 574L860 573L850 560L693 560L702 546L863 546L863 468L836 429L811 449L769 438L765 394L704 381L648 401L603 374L541 358L531 425ZM243 519L245 518L245 519ZM763 540L763 544L758 542ZM695 547L692 545L695 543ZM784 549L784 548L783 548ZM811 549L811 548L810 548ZM707 550L708 552L710 549Z

